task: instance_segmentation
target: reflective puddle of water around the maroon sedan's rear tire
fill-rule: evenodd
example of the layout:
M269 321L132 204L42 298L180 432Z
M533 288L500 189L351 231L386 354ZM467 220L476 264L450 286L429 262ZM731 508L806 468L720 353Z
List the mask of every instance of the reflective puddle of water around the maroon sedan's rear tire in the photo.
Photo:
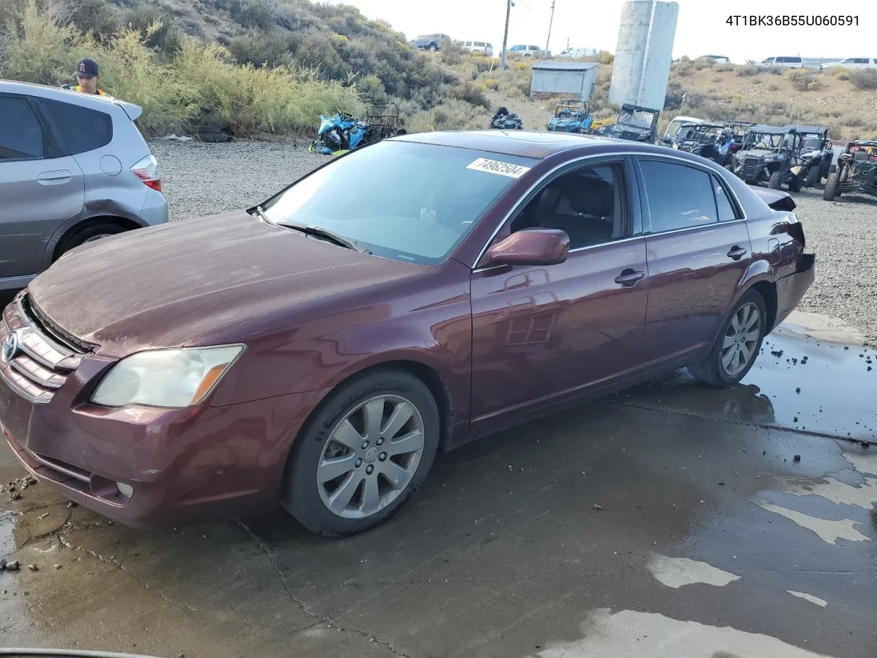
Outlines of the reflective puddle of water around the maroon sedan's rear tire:
M704 386L687 370L678 370L606 399L877 442L877 353L872 348L816 340L781 326L762 349L743 381L729 389Z

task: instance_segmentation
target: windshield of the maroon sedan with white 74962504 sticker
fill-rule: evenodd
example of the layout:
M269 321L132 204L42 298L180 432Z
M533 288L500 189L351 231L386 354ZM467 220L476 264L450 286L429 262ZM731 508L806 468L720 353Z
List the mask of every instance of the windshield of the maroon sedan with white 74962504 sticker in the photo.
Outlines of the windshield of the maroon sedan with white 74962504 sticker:
M263 211L277 224L327 229L376 256L430 265L444 261L534 162L381 141L317 169Z

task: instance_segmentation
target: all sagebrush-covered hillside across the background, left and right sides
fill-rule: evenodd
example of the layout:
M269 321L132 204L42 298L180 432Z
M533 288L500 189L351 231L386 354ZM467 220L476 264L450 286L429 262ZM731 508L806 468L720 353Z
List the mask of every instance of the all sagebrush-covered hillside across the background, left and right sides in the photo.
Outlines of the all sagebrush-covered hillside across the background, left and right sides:
M392 17L388 17L392 18ZM309 0L0 0L0 77L71 82L79 57L102 86L144 107L148 135L223 125L242 137L313 132L321 112L395 102L409 132L487 125L509 106L544 128L552 101L531 104L530 61L412 48L383 20ZM607 103L601 53L592 108ZM824 124L835 139L877 138L877 71L759 69L675 61L660 128L677 114L717 121Z

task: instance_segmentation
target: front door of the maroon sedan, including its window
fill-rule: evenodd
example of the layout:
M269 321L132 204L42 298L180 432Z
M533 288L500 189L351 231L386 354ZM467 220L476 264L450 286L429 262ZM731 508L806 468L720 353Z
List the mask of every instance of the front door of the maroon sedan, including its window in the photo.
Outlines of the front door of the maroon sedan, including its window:
M638 362L648 287L631 165L567 169L498 233L555 228L567 261L474 270L473 425L601 388Z

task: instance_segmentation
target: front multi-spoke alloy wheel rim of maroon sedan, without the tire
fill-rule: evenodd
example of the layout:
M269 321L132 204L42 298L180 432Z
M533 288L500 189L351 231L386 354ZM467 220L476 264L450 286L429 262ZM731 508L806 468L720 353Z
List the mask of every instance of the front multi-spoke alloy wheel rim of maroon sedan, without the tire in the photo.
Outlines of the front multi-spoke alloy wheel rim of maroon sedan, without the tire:
M406 490L424 452L424 419L397 395L371 397L335 426L317 465L317 489L326 509L364 519Z

